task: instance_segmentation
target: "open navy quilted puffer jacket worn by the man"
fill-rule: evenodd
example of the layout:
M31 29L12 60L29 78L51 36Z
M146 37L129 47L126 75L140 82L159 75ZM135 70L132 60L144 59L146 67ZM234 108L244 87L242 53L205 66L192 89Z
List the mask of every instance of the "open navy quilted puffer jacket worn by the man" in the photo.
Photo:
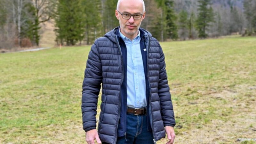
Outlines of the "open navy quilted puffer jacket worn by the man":
M121 113L124 68L117 31L118 27L95 40L92 45L85 68L82 91L83 129L87 132L96 128L95 116L102 83L98 133L100 140L107 143L116 143ZM147 48L149 116L153 136L157 141L165 137L164 126L175 126L174 112L163 50L148 31L142 28L140 31L145 33L143 39Z

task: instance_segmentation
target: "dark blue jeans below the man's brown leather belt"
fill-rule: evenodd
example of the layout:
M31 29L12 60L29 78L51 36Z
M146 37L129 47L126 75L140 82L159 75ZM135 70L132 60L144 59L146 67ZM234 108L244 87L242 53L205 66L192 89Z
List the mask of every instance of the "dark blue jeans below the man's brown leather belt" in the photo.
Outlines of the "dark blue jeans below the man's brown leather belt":
M152 131L148 131L147 116L127 113L126 136L118 137L117 144L154 144Z

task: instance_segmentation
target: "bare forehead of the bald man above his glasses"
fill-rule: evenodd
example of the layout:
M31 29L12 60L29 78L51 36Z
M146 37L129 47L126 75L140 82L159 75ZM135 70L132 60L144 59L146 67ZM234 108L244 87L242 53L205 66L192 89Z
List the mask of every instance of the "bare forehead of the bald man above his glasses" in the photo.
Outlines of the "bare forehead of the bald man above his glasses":
M142 13L143 3L141 0L122 0L119 5L121 12Z

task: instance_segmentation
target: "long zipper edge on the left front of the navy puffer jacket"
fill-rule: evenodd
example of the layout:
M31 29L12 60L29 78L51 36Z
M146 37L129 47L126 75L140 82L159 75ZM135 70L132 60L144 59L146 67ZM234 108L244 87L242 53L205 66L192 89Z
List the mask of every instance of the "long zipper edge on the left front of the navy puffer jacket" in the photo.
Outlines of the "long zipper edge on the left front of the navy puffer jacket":
M122 83L123 83L123 80L124 80L123 56L122 56L122 50L121 50L119 41L118 41L118 39L117 39L117 36L116 36L115 38L116 38L117 47L118 47L119 52L120 52L120 54L121 54L121 62L122 62L122 80L121 80L121 85L120 85L120 87L122 87ZM119 100L119 109L118 109L118 119L117 119L117 126L116 126L115 143L116 143L116 141L117 141L117 128L118 128L118 123L119 123L119 119L120 119L120 115L121 115L121 89L120 89L119 98L120 98L120 100ZM125 132L125 134L126 134L126 132Z

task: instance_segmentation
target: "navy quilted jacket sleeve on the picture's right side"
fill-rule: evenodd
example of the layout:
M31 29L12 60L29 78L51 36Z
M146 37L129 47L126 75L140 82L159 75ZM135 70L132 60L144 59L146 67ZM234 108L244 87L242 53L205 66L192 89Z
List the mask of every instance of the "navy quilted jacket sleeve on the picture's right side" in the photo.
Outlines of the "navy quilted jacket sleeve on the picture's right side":
M160 47L160 72L158 83L158 95L161 104L161 115L164 122L164 126L175 126L174 112L172 106L172 99L170 88L168 85L167 74L164 62L164 53L162 47Z

